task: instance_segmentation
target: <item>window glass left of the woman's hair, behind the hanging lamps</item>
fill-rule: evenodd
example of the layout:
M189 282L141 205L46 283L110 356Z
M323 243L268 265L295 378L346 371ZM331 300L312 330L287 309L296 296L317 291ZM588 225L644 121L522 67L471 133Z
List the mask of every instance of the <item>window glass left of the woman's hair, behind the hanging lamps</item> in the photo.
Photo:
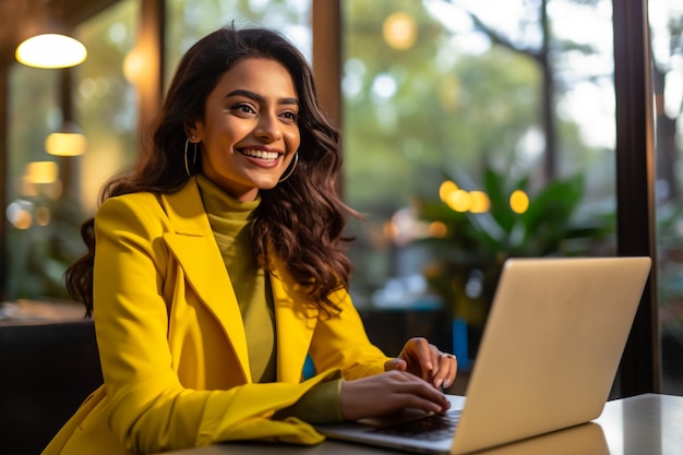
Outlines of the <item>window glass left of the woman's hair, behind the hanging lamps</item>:
M104 181L136 152L135 94L122 73L136 16L137 1L123 0L84 23L76 35L88 58L76 68L11 70L9 299L68 297L64 270L85 249L80 226L93 215ZM64 105L73 107L72 118ZM46 152L46 137L67 120L85 134L82 156Z

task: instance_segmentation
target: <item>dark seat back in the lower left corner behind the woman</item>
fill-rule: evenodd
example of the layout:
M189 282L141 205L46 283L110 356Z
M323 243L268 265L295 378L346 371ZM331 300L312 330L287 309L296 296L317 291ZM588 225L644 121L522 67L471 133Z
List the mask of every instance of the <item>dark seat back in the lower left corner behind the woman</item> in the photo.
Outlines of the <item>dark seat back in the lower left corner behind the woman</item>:
M0 325L0 452L39 454L103 383L92 321Z

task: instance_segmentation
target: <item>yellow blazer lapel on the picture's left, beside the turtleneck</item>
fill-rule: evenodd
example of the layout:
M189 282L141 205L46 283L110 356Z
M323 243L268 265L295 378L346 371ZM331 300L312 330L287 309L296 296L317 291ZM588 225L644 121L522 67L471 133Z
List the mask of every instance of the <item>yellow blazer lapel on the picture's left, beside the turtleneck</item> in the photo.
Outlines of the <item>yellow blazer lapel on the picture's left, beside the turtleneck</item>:
M252 380L242 315L204 212L196 180L191 179L176 193L163 195L163 200L175 228L175 232L167 232L164 240L199 299L223 326L238 358L244 381L250 383Z

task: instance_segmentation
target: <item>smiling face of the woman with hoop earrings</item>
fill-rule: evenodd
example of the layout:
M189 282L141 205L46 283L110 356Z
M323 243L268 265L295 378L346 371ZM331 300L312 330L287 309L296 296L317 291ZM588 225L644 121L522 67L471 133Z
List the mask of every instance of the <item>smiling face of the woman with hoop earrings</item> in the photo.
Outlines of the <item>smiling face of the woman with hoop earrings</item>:
M202 172L232 197L253 201L274 188L299 147L299 103L289 72L250 58L227 71L206 98L192 131Z

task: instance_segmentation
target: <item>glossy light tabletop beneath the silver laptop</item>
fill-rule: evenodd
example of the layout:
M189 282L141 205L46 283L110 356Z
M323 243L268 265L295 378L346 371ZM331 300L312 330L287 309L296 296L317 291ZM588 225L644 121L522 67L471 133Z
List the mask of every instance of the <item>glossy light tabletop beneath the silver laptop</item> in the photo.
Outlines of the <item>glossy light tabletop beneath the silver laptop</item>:
M388 455L403 452L325 441L312 446L229 443L172 455ZM170 455L169 454L169 455ZM683 397L645 394L608 402L595 422L477 455L681 455Z

